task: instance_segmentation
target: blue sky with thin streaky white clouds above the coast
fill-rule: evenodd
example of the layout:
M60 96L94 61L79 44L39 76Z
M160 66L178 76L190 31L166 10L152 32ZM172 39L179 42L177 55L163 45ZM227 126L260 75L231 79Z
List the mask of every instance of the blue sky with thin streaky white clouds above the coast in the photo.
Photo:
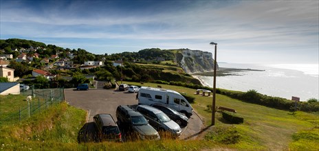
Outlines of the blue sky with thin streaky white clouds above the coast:
M199 49L218 62L313 63L319 1L8 1L0 38L24 38L94 54Z

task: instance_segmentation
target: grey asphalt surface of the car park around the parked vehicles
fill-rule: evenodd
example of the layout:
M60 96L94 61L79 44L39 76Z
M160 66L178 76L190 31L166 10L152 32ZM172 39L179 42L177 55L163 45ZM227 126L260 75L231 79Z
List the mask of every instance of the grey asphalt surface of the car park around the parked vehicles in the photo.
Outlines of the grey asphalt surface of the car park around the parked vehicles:
M99 113L109 113L115 121L115 111L119 105L136 105L136 93L127 91L114 91L106 89L89 89L89 91L76 91L74 89L65 89L65 101L69 105L83 108L88 111L88 124L83 127L92 129L93 117ZM197 114L193 114L188 121L188 126L183 128L179 139L195 138L197 133L203 128L201 119Z

